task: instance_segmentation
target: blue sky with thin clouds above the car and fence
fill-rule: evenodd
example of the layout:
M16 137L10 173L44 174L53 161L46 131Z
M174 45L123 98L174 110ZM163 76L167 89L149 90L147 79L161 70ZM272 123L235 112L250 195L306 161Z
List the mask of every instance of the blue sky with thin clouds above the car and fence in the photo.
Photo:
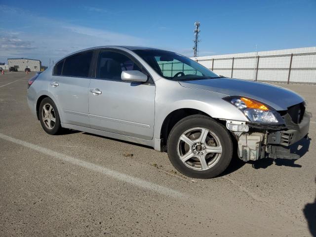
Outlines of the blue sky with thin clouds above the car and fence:
M3 2L3 1L2 1ZM316 0L10 0L0 3L0 62L48 65L79 49L145 45L199 56L316 46Z

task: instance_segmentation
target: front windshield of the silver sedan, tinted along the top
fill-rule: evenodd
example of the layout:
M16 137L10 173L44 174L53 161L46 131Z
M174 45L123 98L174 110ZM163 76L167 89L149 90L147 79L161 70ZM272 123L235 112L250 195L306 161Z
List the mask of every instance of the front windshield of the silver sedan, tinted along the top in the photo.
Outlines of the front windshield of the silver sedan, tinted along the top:
M219 78L218 75L199 63L180 54L156 50L133 50L143 58L160 76L172 80L193 80Z

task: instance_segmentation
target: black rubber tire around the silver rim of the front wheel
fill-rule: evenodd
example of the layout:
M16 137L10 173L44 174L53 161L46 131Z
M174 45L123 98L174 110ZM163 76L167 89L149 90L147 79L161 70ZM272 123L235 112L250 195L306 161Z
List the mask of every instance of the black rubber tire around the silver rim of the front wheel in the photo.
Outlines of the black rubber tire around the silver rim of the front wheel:
M196 170L184 164L177 151L180 136L192 128L206 128L213 132L222 146L222 153L217 163L206 170ZM203 115L192 115L181 119L171 129L167 141L168 157L173 166L182 174L198 179L208 179L218 176L228 167L233 157L233 141L224 125Z

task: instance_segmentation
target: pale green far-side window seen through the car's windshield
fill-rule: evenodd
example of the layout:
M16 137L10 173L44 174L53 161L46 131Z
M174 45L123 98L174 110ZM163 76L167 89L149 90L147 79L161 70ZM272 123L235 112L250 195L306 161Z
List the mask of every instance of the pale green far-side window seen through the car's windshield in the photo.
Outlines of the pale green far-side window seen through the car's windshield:
M190 65L182 63L176 59L173 59L173 61L163 61L163 58L159 56L156 56L155 59L164 77L172 78L175 75L181 74L181 73L183 73L184 75L203 76L200 72L195 70Z

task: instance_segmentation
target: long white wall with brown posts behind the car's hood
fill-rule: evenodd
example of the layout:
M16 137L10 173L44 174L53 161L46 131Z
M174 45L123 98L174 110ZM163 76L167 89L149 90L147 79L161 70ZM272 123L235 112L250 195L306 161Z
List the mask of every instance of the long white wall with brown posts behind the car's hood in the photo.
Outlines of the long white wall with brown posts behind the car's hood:
M229 78L316 83L316 47L192 58Z

